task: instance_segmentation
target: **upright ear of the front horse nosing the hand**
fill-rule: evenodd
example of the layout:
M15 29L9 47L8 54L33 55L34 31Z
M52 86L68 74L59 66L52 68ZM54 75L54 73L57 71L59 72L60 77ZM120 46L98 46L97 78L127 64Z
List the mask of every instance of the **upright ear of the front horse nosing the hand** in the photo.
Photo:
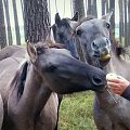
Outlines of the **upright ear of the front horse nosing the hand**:
M37 57L37 51L32 43L27 41L27 53L29 55L30 61L34 63Z

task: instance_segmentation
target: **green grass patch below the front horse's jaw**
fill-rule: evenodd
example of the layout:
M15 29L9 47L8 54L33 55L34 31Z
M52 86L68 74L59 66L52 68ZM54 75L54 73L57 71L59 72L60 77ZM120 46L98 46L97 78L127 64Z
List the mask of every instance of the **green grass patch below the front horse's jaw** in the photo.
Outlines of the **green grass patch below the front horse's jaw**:
M92 92L65 95L60 108L58 130L96 130L92 103Z

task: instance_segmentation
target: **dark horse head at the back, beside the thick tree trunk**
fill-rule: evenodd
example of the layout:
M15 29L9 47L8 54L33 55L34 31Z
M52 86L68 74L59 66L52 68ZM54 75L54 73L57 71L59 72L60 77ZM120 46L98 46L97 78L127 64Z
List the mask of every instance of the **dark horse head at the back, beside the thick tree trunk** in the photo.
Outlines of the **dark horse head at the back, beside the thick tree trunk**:
M63 43L67 50L72 52L72 55L78 58L76 49L76 41L74 37L74 29L78 24L78 13L73 18L61 18L58 13L55 14L55 24L52 26L52 32L54 40L58 43Z

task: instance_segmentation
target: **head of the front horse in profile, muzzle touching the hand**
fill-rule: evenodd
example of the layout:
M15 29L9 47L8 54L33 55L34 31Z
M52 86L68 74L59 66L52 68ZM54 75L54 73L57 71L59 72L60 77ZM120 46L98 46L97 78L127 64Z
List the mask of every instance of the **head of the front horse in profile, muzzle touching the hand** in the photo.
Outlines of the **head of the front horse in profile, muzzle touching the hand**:
M27 52L34 68L51 91L63 94L99 90L106 84L101 69L76 60L66 49L28 43Z

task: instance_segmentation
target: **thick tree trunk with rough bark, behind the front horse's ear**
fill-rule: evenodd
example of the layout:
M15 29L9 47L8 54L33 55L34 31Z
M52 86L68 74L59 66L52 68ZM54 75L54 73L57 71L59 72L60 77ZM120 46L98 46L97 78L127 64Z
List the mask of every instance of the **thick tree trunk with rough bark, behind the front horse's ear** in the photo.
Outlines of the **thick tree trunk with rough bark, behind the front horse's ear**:
M25 41L46 39L50 26L47 0L24 0L24 25Z

